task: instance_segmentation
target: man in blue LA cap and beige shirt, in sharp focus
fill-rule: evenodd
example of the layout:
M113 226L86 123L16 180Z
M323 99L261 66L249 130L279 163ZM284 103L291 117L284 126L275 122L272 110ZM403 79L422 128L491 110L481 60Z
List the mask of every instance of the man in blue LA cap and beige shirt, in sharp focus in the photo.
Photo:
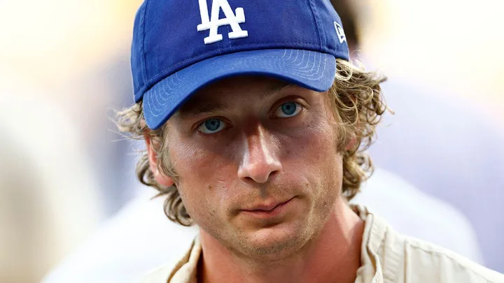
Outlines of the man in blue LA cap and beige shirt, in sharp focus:
M146 1L135 20L144 184L199 235L144 282L502 282L347 201L386 110L329 1Z

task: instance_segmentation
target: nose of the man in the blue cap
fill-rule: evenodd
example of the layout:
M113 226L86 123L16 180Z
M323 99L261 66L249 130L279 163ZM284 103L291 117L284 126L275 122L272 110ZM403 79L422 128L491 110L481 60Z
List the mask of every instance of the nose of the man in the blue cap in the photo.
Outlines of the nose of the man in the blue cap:
M258 127L253 134L246 134L238 177L244 181L265 183L269 177L282 170L275 150L277 146L265 131Z

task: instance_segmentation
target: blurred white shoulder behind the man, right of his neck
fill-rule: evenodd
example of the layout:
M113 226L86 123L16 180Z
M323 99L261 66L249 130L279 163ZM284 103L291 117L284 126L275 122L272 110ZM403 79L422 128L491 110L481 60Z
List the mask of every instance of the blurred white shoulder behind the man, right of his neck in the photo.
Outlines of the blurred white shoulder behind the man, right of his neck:
M376 168L352 203L365 205L399 233L482 262L475 230L460 211L383 168Z

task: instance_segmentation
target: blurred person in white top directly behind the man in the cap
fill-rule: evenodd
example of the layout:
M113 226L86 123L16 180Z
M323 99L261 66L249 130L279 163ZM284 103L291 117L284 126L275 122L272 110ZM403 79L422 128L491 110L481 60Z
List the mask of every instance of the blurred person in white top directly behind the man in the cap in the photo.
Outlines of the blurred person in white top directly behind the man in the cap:
M355 38L351 28L355 27L354 15L342 8L342 3L335 2L350 45ZM394 110L401 112L398 108ZM360 187L362 191L351 203L366 205L387 219L396 231L482 262L472 227L451 206L381 168L374 170ZM152 190L144 186L138 189L140 196L127 203L82 247L52 270L44 282L137 282L153 266L179 261L197 235L197 228L169 222L160 210L162 204L156 203L163 200L151 200Z

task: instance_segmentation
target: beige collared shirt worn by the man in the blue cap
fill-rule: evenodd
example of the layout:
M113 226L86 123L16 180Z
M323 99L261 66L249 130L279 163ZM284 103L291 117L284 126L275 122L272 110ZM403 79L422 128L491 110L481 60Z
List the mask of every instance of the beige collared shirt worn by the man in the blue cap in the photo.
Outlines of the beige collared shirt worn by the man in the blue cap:
M353 206L365 221L356 283L504 283L504 275L442 247L397 233L384 219ZM202 247L196 238L175 266L162 266L142 283L196 283Z

